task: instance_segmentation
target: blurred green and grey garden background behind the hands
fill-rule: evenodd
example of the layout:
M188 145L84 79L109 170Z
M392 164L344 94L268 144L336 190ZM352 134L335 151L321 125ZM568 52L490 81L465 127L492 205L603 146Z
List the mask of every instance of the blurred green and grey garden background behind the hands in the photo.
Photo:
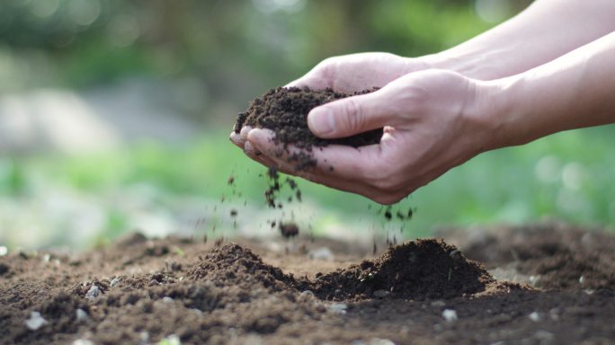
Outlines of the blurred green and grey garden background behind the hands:
M5 0L0 246L88 248L133 230L275 235L267 220L280 218L367 241L545 218L612 228L612 126L480 155L395 206L414 210L406 222L307 181L302 203L269 210L263 167L227 140L249 101L325 57L437 52L528 4Z

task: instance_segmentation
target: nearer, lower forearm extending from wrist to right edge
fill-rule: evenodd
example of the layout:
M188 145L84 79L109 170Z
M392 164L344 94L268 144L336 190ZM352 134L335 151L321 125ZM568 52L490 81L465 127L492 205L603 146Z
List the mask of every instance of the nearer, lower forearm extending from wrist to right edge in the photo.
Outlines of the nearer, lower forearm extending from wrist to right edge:
M521 75L485 82L479 97L495 124L489 148L615 123L614 57L615 31Z

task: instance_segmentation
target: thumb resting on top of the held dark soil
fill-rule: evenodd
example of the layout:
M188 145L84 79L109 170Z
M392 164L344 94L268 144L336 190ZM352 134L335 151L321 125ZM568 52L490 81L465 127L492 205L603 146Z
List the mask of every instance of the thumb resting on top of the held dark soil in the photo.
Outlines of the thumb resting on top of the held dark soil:
M307 127L316 137L350 137L385 126L384 107L378 92L352 96L314 108L307 114Z

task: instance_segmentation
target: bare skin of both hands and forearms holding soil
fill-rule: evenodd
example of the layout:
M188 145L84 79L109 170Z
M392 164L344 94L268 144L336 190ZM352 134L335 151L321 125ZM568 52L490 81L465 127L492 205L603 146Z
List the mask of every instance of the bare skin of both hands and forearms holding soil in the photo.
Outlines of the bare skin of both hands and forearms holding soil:
M268 129L242 128L231 140L281 172L392 204L488 150L615 122L611 31L613 1L542 0L436 55L332 57L289 85L381 89L315 108L310 130L334 138L385 128L379 145L327 146L314 151L316 168L298 172Z

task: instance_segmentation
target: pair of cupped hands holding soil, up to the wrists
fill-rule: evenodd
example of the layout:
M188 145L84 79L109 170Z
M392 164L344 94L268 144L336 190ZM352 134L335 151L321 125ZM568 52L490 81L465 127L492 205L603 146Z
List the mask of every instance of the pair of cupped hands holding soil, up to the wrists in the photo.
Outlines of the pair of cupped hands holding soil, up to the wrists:
M420 59L387 53L332 57L287 86L331 87L344 93L381 87L326 103L307 116L316 137L350 137L384 128L380 143L313 150L316 167L296 171L287 156L280 155L269 129L242 128L231 134L231 141L261 164L381 204L404 199L483 152L493 129L481 109L480 82L431 69ZM293 150L297 148L290 147Z

